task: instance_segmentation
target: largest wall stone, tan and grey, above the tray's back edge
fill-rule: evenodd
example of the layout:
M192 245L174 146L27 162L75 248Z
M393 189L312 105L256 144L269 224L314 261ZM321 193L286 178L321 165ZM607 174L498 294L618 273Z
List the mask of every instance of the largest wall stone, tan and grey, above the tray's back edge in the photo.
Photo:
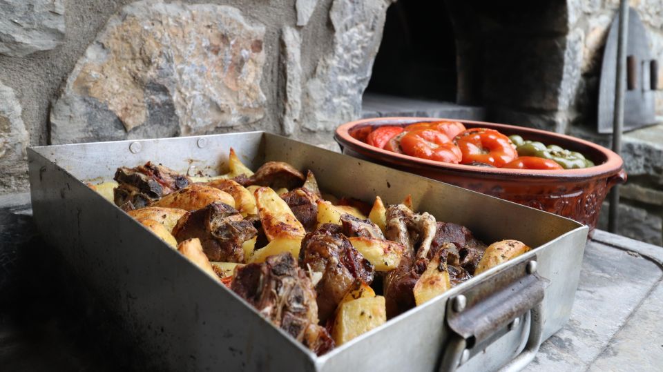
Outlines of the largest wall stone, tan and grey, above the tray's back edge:
M264 37L229 6L132 3L68 77L50 115L51 141L204 134L258 121Z

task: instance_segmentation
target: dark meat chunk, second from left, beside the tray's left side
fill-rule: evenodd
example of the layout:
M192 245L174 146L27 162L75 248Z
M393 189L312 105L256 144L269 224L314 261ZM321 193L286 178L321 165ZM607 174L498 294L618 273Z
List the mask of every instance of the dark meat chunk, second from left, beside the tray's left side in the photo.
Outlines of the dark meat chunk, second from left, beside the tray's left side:
M256 233L250 221L224 203L212 203L189 212L173 228L177 242L197 237L207 258L221 262L244 262L242 243Z

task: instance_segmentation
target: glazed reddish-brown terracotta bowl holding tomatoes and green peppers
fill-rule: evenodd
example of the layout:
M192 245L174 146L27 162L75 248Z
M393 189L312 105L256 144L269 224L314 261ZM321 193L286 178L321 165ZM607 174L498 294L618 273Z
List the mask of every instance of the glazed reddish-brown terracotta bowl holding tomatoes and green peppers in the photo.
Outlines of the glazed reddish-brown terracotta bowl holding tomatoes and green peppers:
M365 135L366 127L406 126L441 120L461 121L467 128L492 128L504 135L521 135L524 139L541 141L546 145L555 144L582 153L596 166L569 170L519 170L448 164L392 153L358 139ZM622 158L613 151L545 130L457 119L382 117L343 124L336 128L334 137L345 154L569 217L588 225L590 231L596 226L601 205L610 188L626 182Z

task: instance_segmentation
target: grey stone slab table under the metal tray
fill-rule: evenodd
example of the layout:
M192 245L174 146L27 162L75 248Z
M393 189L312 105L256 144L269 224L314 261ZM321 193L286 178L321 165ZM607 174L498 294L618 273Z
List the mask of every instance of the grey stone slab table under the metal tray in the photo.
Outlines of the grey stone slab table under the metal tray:
M104 326L90 321L93 299L63 300L67 286L57 280L52 257L32 224L29 196L0 197L2 370L131 366L130 358L108 358L131 351L105 342ZM663 247L596 231L570 321L541 345L526 370L663 371L662 279Z

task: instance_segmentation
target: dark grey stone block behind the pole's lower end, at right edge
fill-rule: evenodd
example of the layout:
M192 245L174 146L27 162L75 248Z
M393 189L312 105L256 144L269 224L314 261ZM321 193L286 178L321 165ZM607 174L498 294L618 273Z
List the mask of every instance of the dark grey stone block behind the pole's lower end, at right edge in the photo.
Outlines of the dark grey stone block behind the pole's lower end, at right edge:
M606 202L601 208L597 228L603 230L608 228L608 210L609 204ZM619 235L663 246L663 216L660 215L660 207L647 210L625 204L622 199L622 202L619 204L617 225L617 233Z

